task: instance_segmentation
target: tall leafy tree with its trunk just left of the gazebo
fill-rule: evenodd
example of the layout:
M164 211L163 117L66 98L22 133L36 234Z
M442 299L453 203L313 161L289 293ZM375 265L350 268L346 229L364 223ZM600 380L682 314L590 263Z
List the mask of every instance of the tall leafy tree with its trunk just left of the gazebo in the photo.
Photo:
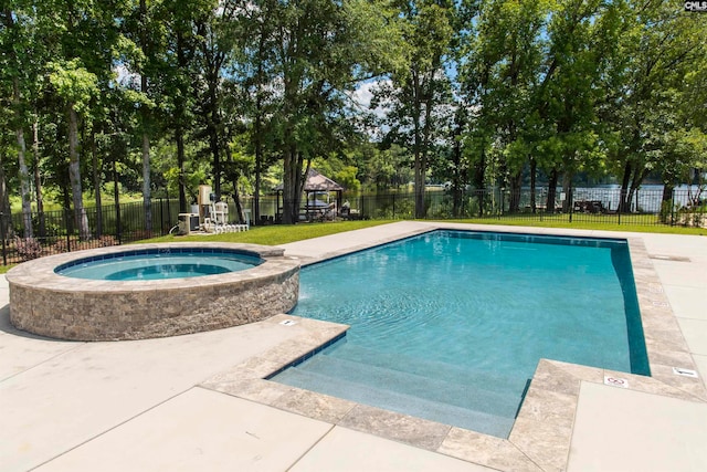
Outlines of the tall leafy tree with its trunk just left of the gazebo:
M283 159L283 222L294 223L305 162L329 150L350 94L382 71L399 43L379 1L291 0L267 11L275 22L268 76L277 96L272 129Z

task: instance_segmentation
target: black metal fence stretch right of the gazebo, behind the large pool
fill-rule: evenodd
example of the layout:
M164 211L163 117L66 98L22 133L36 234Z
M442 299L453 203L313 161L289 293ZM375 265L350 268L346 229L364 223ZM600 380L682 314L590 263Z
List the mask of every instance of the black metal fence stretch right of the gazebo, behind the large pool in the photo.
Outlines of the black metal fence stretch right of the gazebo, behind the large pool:
M698 189L676 189L663 200L663 189L636 190L633 193L613 188L578 188L566 195L556 191L548 208L548 189L510 192L504 189L461 192L425 192L426 219L513 219L605 224L686 225L707 222L707 206ZM550 196L551 198L551 196ZM412 219L413 193L387 193L349 198L354 218Z

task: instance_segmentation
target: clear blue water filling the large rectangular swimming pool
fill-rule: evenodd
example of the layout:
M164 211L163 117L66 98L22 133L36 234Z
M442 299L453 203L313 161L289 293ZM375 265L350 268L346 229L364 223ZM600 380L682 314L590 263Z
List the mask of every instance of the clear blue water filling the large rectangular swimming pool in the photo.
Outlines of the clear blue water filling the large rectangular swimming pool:
M304 268L351 325L273 378L506 438L540 358L650 375L625 241L435 231Z

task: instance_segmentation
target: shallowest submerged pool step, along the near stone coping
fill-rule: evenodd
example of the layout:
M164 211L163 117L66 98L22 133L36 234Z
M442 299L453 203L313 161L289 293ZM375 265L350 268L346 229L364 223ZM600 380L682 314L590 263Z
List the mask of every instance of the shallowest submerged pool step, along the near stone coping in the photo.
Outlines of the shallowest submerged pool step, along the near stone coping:
M392 391L386 388L387 384L372 387L369 384L334 378L304 370L300 367L289 368L272 380L431 421L454 424L498 438L507 438L514 423L514 418L489 415Z

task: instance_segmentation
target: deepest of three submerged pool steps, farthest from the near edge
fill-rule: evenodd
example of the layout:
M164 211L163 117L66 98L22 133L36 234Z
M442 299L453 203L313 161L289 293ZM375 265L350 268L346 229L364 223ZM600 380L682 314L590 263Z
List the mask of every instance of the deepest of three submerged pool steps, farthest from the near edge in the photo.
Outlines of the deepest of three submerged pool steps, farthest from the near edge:
M342 339L321 353L325 356L352 360L356 363L420 375L437 380L479 388L493 386L493 391L508 391L520 395L526 380L518 379L503 371L472 369L437 360L421 359L398 353L383 353L368 349Z

